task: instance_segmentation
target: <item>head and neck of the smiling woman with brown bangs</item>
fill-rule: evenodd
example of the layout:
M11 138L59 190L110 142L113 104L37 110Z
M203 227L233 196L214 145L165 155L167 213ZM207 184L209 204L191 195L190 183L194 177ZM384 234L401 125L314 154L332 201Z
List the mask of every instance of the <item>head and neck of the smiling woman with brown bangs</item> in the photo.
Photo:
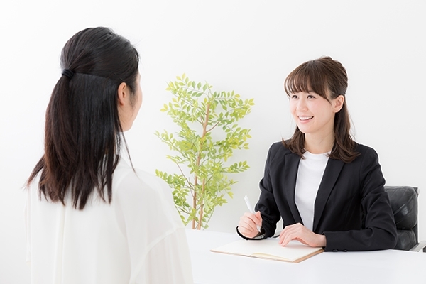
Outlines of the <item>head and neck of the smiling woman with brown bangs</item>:
M349 133L351 122L344 99L347 80L343 65L329 57L306 62L288 75L284 89L290 97L290 112L297 124L293 139L284 141L291 151L300 156L305 151L331 151L331 158L346 163L354 160L357 153ZM333 147L335 139L336 147Z

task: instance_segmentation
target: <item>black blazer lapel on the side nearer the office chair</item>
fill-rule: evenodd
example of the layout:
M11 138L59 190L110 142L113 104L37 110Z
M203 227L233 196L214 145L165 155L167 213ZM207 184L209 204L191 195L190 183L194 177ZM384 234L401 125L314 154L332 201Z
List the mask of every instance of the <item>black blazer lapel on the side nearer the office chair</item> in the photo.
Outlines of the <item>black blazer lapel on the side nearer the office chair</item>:
M324 212L325 204L329 198L329 195L332 193L334 184L339 178L340 171L342 170L344 162L342 160L329 159L327 166L324 170L324 175L318 188L317 198L315 199L315 209L314 209L314 224L312 226L312 231L317 229L318 223L320 222L322 212Z

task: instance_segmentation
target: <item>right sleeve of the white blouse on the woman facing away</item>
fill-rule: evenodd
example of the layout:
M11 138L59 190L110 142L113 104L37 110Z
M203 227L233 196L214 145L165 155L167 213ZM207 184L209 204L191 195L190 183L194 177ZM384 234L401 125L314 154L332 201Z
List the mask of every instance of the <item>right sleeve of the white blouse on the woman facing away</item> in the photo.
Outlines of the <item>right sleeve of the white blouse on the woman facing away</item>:
M185 228L170 187L143 172L114 179L116 217L129 246L130 283L192 283Z

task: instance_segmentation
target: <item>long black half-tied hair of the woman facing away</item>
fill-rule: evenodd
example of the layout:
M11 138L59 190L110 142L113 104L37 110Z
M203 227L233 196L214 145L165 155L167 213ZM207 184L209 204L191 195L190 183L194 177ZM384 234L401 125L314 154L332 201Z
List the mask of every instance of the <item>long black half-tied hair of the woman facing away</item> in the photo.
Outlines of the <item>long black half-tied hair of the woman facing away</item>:
M109 28L86 28L67 41L60 61L71 72L64 72L53 89L45 117L45 153L27 186L41 172L40 198L65 204L70 192L72 206L83 209L96 190L110 203L124 139L117 90L125 82L134 96L138 52Z

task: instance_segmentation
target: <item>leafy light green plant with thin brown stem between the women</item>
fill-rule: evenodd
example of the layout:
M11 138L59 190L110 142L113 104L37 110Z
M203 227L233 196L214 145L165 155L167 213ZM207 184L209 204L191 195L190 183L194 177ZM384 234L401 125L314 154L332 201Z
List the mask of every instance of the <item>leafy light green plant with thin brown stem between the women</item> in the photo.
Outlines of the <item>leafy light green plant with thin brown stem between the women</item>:
M166 89L173 99L161 111L179 130L155 135L175 153L166 157L177 165L178 173L155 173L173 188L184 224L206 229L214 208L227 202L226 195L232 197L236 181L228 175L249 168L246 161L232 163L229 158L234 150L249 148L250 129L239 127L237 121L250 113L254 103L234 91L214 92L212 85L191 81L185 74L176 79Z

